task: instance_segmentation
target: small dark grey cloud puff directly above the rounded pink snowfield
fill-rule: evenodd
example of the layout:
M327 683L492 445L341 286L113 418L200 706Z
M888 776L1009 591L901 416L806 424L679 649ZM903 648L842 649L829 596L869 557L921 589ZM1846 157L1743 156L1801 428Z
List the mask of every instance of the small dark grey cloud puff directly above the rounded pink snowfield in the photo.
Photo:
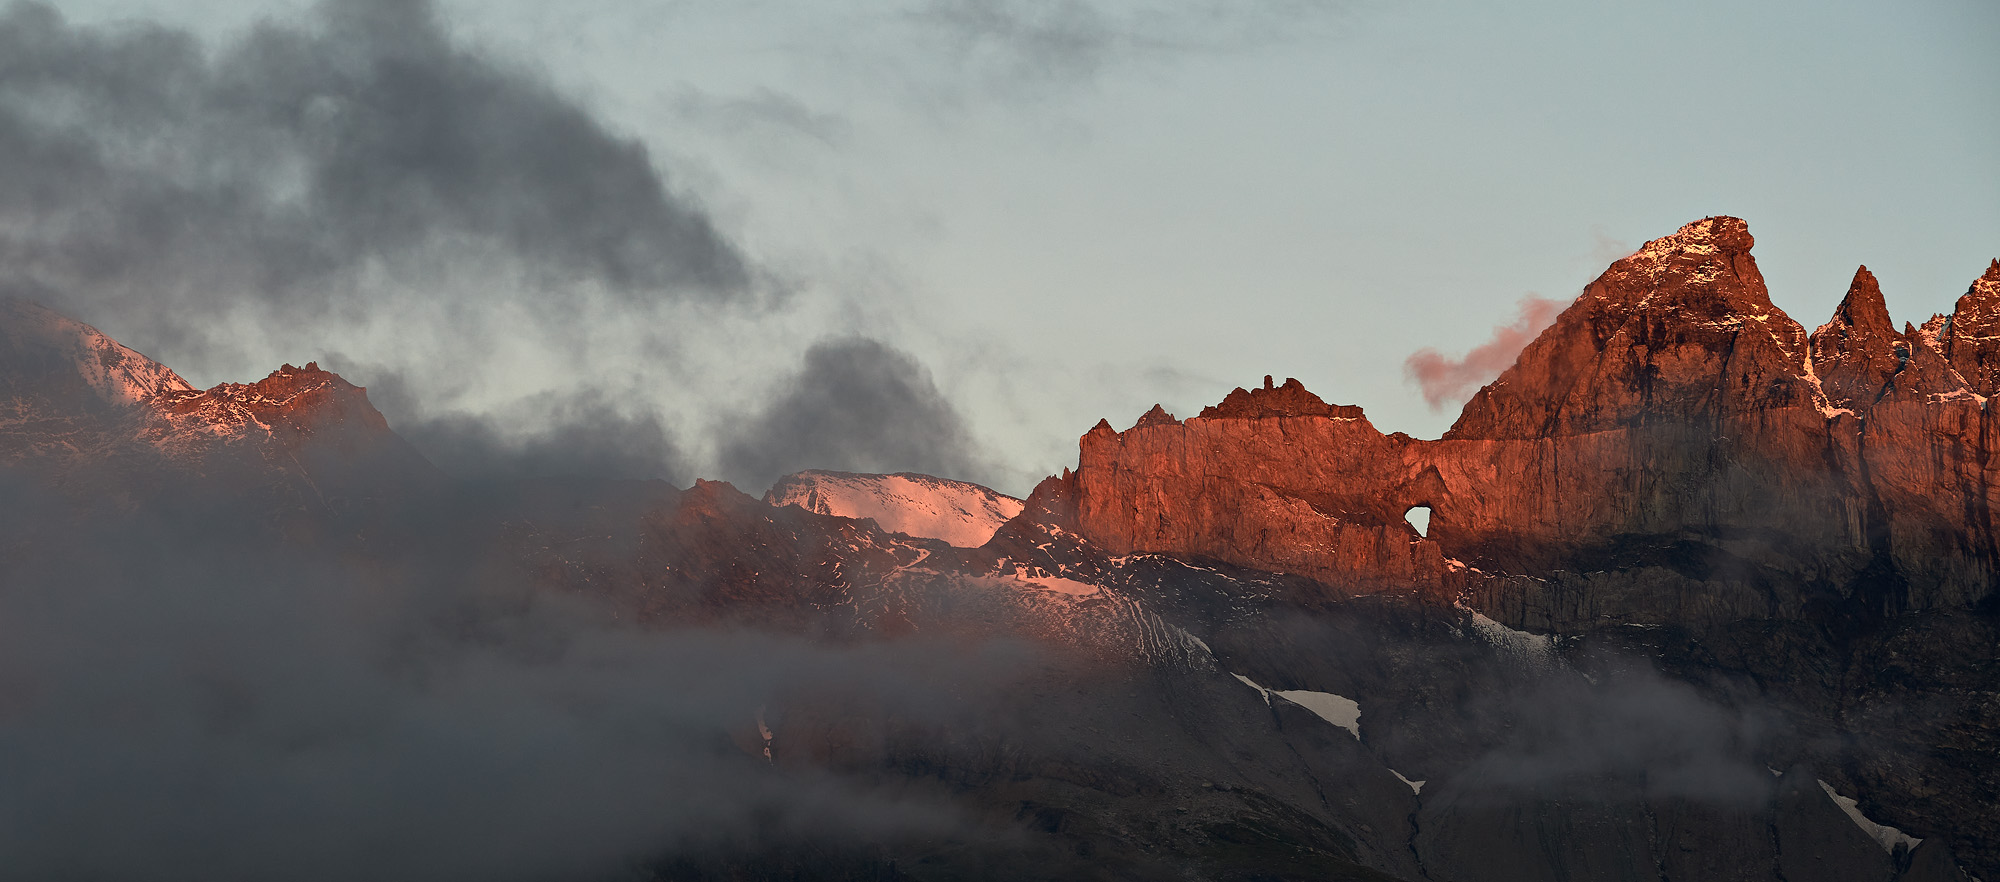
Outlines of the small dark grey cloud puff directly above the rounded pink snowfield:
M984 478L964 420L930 372L866 338L812 346L780 392L722 444L722 472L752 492L802 468Z

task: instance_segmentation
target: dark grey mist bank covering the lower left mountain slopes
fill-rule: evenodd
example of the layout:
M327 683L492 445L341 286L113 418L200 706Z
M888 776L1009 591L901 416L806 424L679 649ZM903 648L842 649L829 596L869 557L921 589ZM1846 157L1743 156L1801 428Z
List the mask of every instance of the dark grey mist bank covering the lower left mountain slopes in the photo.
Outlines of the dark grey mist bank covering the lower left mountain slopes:
M758 714L852 700L964 728L956 696L1032 668L1000 644L618 626L482 566L454 530L472 508L354 564L228 500L48 518L72 500L6 470L0 494L8 878L634 878L742 844L970 836L942 798L772 766Z

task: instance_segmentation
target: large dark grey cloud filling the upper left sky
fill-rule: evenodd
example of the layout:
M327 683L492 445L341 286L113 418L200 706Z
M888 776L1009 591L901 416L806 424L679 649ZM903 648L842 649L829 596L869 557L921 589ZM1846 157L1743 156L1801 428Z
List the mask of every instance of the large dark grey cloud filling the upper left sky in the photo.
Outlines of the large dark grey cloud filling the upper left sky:
M544 300L742 298L744 256L646 148L422 0L328 0L210 50L0 14L0 266L70 300L334 310L360 274L502 262ZM498 294L494 294L498 296Z

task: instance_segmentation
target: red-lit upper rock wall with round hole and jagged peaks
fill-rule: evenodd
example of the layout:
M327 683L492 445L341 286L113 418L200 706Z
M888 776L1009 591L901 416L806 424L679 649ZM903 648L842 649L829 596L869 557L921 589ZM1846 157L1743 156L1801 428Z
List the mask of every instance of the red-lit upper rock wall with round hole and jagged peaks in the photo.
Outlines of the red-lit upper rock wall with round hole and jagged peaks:
M1956 366L1986 370L2000 264L1902 334L1860 270L1808 338L1750 244L1708 218L1612 264L1436 442L1296 380L1186 422L1098 424L1068 478L1074 526L1114 554L1416 586L1540 626L1986 598L2000 442L1988 380ZM1432 508L1428 538L1410 506Z

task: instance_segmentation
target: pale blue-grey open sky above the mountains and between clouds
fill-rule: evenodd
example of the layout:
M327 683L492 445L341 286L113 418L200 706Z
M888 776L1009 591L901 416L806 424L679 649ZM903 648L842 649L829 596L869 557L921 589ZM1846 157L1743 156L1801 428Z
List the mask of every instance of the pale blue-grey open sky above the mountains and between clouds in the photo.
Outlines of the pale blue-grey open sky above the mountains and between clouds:
M54 6L212 40L310 8ZM914 354L984 476L1020 494L1074 464L1100 416L1188 416L1264 374L1436 436L1454 412L1424 406L1404 358L1464 352L1522 296L1574 296L1708 214L1750 222L1772 298L1808 328L1856 264L1920 322L2000 256L1990 0L442 10L456 38L640 140L790 294L682 310L698 332L672 352L618 326L584 360L522 344L438 394L478 410L622 370L620 394L684 426L696 456L694 426L828 334ZM398 358L382 328L316 332L334 338L154 354L198 384L312 346Z

